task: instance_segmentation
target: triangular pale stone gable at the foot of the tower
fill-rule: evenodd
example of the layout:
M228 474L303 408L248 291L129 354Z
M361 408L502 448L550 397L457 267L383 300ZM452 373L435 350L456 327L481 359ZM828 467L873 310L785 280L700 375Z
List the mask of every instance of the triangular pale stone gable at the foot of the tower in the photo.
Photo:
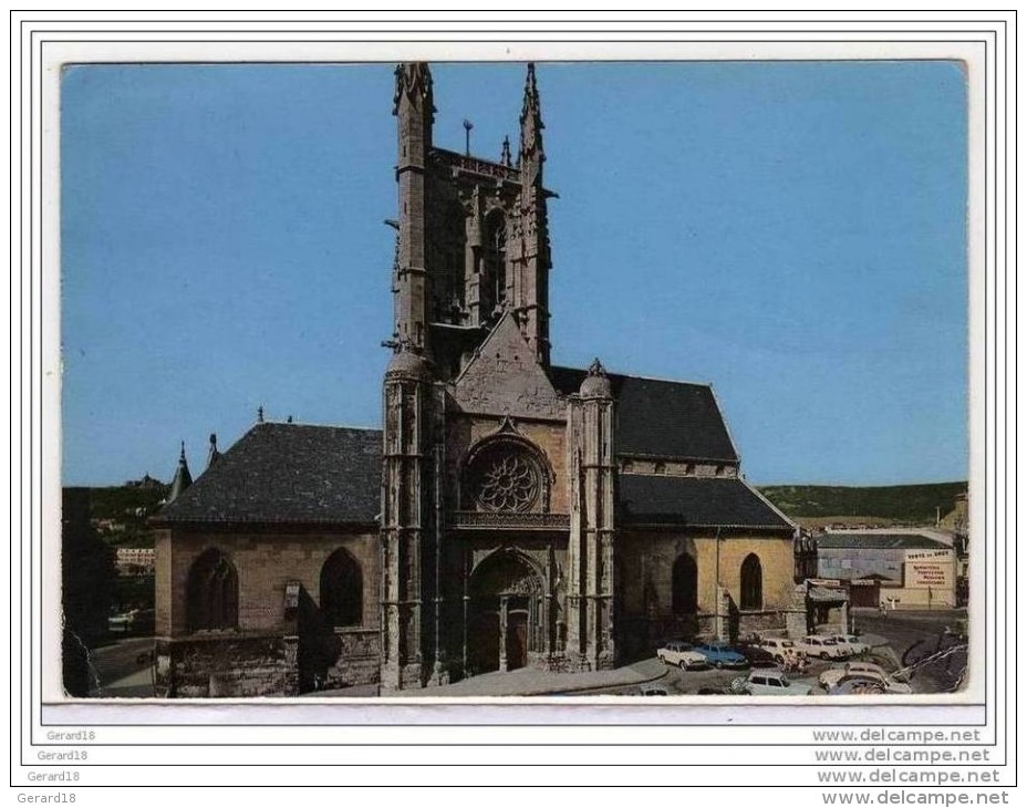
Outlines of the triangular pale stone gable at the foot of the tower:
M457 377L453 401L467 413L563 418L564 405L514 315L502 315Z

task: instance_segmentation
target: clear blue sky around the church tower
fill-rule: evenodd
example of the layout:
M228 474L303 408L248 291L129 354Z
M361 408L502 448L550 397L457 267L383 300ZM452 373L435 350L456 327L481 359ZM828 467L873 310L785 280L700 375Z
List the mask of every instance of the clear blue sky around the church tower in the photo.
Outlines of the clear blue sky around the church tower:
M435 64L516 146L521 64ZM967 477L966 89L946 62L542 63L553 362L712 382L756 483ZM61 99L63 479L377 426L392 65L90 65Z

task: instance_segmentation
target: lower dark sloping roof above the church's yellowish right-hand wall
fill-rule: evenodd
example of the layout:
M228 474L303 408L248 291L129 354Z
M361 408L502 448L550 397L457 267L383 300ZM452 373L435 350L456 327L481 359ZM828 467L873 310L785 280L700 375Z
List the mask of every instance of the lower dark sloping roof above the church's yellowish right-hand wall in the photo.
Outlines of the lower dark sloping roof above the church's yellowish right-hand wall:
M629 525L792 529L788 519L737 477L622 474L619 499Z

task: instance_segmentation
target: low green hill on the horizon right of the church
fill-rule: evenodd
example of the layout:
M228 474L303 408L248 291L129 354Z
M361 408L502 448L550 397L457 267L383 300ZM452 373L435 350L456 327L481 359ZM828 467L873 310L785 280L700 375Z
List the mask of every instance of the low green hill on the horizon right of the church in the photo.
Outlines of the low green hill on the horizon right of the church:
M890 524L933 525L955 507L965 481L876 487L759 486L759 490L788 516L795 518L858 517Z

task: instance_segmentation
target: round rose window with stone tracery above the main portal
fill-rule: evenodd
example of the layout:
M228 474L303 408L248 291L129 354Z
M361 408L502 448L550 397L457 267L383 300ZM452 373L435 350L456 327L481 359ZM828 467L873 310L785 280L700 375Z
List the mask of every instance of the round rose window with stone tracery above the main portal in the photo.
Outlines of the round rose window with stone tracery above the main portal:
M471 496L479 510L522 512L535 510L542 489L538 462L521 447L486 448L468 468Z

